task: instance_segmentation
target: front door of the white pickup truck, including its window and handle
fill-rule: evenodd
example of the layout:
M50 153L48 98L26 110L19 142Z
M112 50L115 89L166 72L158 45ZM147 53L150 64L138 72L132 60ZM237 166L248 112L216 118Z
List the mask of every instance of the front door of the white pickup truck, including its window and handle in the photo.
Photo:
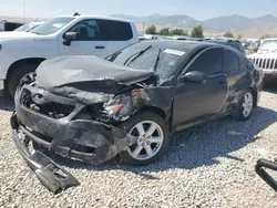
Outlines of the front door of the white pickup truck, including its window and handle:
M78 39L71 42L71 45L63 44L63 38L60 40L61 55L96 55L105 58L107 55L107 41L103 39L100 31L100 20L88 19L78 22L66 32L76 32Z

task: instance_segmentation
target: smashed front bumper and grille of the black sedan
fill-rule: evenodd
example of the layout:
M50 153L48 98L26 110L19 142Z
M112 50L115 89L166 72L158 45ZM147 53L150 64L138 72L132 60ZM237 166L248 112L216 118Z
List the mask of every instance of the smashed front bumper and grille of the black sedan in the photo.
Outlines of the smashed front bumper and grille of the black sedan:
M101 113L90 107L24 85L16 95L13 116L18 129L14 131L21 131L49 150L94 165L113 158L136 142L124 131L93 119Z

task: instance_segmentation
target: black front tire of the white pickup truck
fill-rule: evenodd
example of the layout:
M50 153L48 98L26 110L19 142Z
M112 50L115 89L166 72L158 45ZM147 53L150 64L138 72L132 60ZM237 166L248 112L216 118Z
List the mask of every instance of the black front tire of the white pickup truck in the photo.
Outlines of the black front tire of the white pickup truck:
M21 79L31 72L34 72L38 67L38 64L25 64L18 66L8 77L8 91L9 94L13 97L17 91L17 87L21 81Z

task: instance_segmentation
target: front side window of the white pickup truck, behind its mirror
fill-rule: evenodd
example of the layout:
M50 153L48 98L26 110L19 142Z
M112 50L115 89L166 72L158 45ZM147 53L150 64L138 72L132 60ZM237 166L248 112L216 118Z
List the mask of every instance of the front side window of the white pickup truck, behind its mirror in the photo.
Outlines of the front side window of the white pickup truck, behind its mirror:
M75 24L69 32L76 32L76 41L100 40L99 23L96 20L84 20Z

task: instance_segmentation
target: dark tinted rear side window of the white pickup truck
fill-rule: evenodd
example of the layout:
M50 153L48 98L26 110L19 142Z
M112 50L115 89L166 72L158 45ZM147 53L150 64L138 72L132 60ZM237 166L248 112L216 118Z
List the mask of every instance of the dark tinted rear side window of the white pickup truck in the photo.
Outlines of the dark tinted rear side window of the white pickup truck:
M99 20L103 41L127 41L133 39L132 27L129 22Z

